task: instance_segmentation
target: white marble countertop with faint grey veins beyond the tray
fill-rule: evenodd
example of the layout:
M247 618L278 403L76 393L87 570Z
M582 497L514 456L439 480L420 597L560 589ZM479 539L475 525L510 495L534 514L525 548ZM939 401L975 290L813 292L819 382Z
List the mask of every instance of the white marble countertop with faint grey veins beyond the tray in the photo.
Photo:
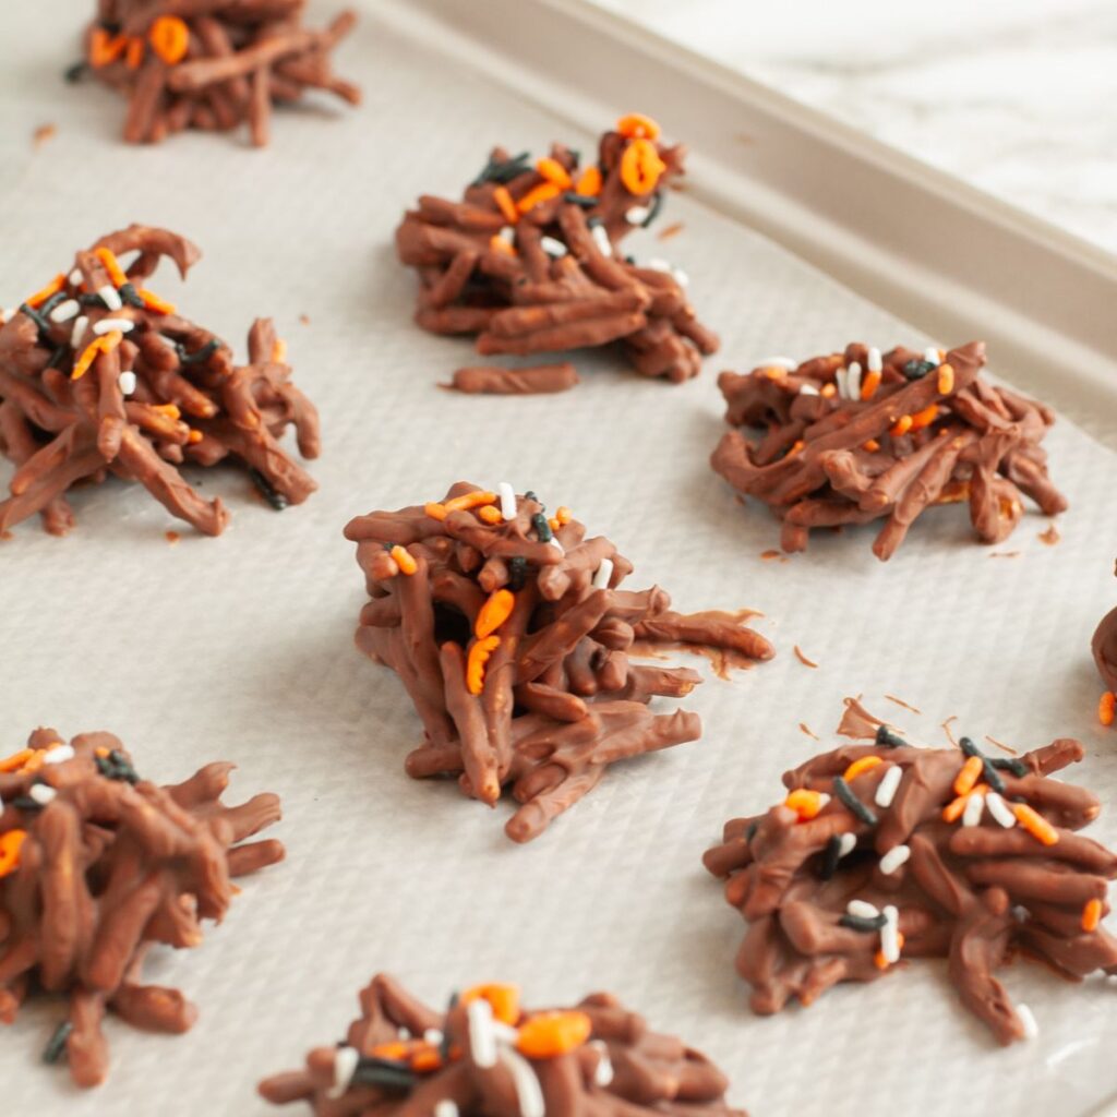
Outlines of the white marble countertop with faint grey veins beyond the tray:
M1113 0L598 0L1117 251Z

